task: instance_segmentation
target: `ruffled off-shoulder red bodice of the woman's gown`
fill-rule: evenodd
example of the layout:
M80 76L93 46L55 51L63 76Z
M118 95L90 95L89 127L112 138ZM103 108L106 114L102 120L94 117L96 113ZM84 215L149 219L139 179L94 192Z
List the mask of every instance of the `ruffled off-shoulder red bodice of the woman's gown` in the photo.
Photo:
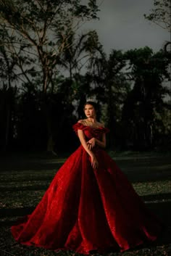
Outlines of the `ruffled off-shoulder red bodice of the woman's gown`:
M94 128L88 125L82 125L81 123L75 123L75 125L73 125L72 127L76 134L78 134L78 130L83 130L83 133L86 136L87 140L91 138L96 138L100 140L103 133L109 132L108 128L104 128L102 126Z

